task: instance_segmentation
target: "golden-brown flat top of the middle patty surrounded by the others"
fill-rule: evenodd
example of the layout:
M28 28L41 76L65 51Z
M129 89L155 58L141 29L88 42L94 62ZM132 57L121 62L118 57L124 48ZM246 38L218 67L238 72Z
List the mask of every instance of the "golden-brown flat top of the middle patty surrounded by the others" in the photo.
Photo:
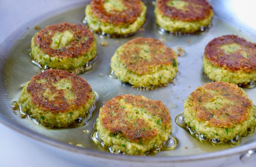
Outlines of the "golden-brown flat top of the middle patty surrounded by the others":
M157 39L139 37L121 47L120 61L128 70L138 75L154 73L156 68L166 65L177 67L173 50Z

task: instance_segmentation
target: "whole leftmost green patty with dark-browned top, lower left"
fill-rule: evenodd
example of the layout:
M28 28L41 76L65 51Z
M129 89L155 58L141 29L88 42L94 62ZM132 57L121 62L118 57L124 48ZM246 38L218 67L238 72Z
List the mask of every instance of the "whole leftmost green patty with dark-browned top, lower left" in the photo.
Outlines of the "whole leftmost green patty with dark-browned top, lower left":
M21 92L22 111L47 127L67 127L83 118L95 95L83 78L58 69L35 75Z

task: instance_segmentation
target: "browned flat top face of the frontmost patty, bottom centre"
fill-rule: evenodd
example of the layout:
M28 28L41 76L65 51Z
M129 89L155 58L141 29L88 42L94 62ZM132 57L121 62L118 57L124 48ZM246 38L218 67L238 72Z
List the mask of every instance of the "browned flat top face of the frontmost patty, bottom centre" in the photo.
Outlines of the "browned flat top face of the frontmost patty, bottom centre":
M143 112L142 116L137 113ZM169 111L161 101L154 101L143 96L120 95L112 98L100 109L103 127L112 135L121 134L131 142L148 141L158 134L151 121L169 129Z

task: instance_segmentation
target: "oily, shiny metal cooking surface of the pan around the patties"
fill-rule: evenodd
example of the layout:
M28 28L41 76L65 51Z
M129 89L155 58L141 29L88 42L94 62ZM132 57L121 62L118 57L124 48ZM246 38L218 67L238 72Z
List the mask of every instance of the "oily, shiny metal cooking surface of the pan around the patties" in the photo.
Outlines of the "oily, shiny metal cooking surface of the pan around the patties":
M216 1L215 1L216 2ZM143 26L145 31L139 31L133 36L127 38L102 38L95 34L98 47L98 59L93 63L93 68L87 71L82 76L92 86L97 93L96 109L92 114L92 118L83 127L67 128L60 130L49 130L41 125L34 123L28 118L21 119L19 112L13 112L11 102L17 101L21 92L20 86L26 83L32 76L40 73L40 69L30 62L28 52L30 51L30 42L32 36L38 30L35 26L44 28L46 25L57 24L60 22L82 23L84 17L85 4L89 1L76 4L72 9L64 10L60 13L55 12L54 15L45 14L40 19L31 21L31 26L24 30L24 27L17 29L11 37L4 40L0 49L0 120L14 129L21 131L24 134L38 138L42 141L71 149L74 151L104 156L109 152L102 149L101 146L95 145L92 142L91 134L94 131L94 123L98 117L100 107L105 101L120 94L143 95L154 100L161 100L169 109L173 123L172 134L178 139L179 144L172 151L162 151L158 154L148 156L148 158L158 160L159 157L166 157L166 160L172 160L173 157L188 157L199 155L201 157L210 157L216 152L225 151L226 154L233 152L242 152L248 149L256 148L256 133L249 134L243 138L240 145L211 145L210 143L202 143L196 138L188 134L187 131L177 126L175 117L183 112L183 103L187 96L198 86L208 83L206 76L202 71L202 55L206 44L217 36L226 34L236 34L244 37L249 41L256 41L256 33L251 27L238 23L231 23L232 19L227 18L222 11L224 4L211 3L215 10L215 17L212 20L213 26L207 31L198 35L174 36L171 34L162 34L158 31L154 20L154 5L151 0L145 1L147 5L147 22ZM56 14L57 13L57 14ZM225 17L224 17L225 16ZM231 17L231 16L230 16ZM232 17L231 17L232 18ZM225 20L224 20L225 19ZM40 21L39 21L40 20ZM7 29L8 27L6 27ZM18 39L21 32L23 35ZM127 85L122 85L120 81L109 78L110 58L113 56L116 49L133 38L144 36L153 37L159 40L164 40L169 47L181 47L185 50L185 56L179 57L179 75L172 84L166 87L156 88L153 91L139 91ZM102 41L109 45L103 47L100 45ZM10 47L11 46L11 47ZM253 102L256 102L256 91L254 89L245 89L248 96ZM84 133L87 130L88 133ZM73 145L68 145L72 143ZM74 145L82 145L83 148ZM118 155L110 155L113 158ZM146 157L143 157L147 160Z

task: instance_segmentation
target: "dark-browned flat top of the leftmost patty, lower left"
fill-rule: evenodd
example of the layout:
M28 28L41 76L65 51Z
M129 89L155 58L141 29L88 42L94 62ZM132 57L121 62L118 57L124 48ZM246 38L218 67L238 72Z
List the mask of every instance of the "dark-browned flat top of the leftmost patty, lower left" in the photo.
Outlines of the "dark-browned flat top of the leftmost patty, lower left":
M58 69L33 76L27 92L33 105L52 113L77 109L92 98L92 89L86 80Z

